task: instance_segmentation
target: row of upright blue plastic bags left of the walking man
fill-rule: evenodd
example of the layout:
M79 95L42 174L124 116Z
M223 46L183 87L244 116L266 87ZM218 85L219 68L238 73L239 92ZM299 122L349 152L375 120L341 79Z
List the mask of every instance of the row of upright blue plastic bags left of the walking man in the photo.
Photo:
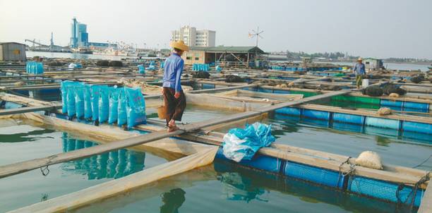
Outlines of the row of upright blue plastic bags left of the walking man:
M61 82L62 112L69 118L116 123L128 128L147 123L139 87L109 87L65 80Z

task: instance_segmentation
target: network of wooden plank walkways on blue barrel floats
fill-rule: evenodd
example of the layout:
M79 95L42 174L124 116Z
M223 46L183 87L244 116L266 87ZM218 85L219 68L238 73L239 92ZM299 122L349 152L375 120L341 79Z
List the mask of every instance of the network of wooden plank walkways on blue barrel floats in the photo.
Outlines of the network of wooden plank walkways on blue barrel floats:
M133 63L128 64L128 66L130 67L131 64ZM0 68L1 66L0 64ZM118 70L114 68L109 71L101 71L99 68L90 68L88 71L84 69L74 69L73 71L49 70L44 75L35 76L27 75L21 69L13 70L10 67L8 67L8 71L4 72L8 73L8 75L0 76L0 89L7 92L56 89L59 88L59 82L56 80L65 79L82 80L87 78L87 82L92 84L121 85L119 78L141 78L145 76L145 79L142 80L147 84L159 84L161 78L160 73L157 72L136 75L123 68ZM419 98L414 95L368 97L350 89L354 86L352 79L342 79L330 74L323 76L323 73L318 73L319 75L305 75L303 73L300 75L284 72L264 72L234 68L232 70L227 69L224 74L211 71L210 79L185 77L185 82L194 86L198 85L201 88L201 90L186 92L186 99L189 97L188 104L202 107L219 107L236 111L236 113L207 121L187 123L179 126L179 130L172 133L167 133L163 122L152 118L148 119L148 125L138 125L133 128L133 130L140 130L145 133L122 130L106 124L93 126L88 123L81 123L79 120L68 121L65 119L65 115L59 111L61 108L59 102L47 102L31 97L0 93L0 103L4 104L4 106L7 103L20 106L19 108L0 109L0 116L12 116L25 121L43 123L51 128L66 132L82 132L83 137L100 142L100 145L97 146L0 166L0 179L22 174L33 169L42 169L54 164L83 159L124 148L154 153L170 160L166 164L160 164L123 178L94 185L90 188L78 190L75 193L55 197L12 212L64 212L77 209L98 200L128 192L161 178L167 178L196 169L199 166L211 164L214 159L227 161L220 149L224 133L218 132L217 129L227 126L242 126L250 121L260 121L268 114L308 117L326 121L329 126L335 122L343 122L354 123L359 126L378 125L380 128L400 130L400 134L410 131L429 135L432 133L432 119L427 116L430 114L429 111L432 111L432 99L428 97L422 96ZM186 73L190 73L190 71ZM224 82L226 80L224 76L228 73L246 73L246 76L252 81L248 83ZM280 79L271 79L275 77ZM32 78L40 79L32 81ZM37 80L40 80L40 82L29 84L36 83ZM328 80L331 82L327 82ZM18 82L24 84L6 85ZM384 78L371 80L371 83L383 85L397 82ZM403 84L400 83L400 85ZM287 85L289 87L286 87ZM297 87L298 85L313 85L313 87L320 85L338 86L340 90L310 90ZM424 86L412 91L428 93L430 85L428 83L421 85ZM411 87L412 85L407 83L404 86ZM161 95L145 95L147 107L160 105L160 97ZM373 104L376 108L349 109L320 104L325 100ZM382 116L376 113L376 109L380 107L392 107L394 111L397 111L397 109L400 109L400 111L397 111L396 114ZM41 114L41 111L47 113ZM417 114L414 116L399 113L404 111ZM238 165L267 171L272 174L294 177L347 193L374 197L386 202L399 203L400 197L398 194L405 195L404 193L410 192L407 195L408 197L412 196L410 197L412 202L409 205L419 207L419 212L431 212L432 207L429 200L431 200L432 193L431 185L428 184L428 180L431 178L429 172L390 164L384 164L382 170L370 169L356 165L355 160L355 157L340 154L272 144L270 147L261 148L253 161L242 161ZM301 171L313 171L319 175L307 176ZM385 183L385 186L378 183ZM374 193L370 190L364 191L361 190L362 187L373 188L373 190L382 193Z

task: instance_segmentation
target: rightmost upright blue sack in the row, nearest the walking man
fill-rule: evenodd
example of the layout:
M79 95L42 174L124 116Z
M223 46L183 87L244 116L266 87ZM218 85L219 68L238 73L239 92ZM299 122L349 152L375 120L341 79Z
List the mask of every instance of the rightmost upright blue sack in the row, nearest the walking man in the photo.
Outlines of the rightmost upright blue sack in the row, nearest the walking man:
M143 93L141 93L141 88L125 87L124 92L126 93L126 115L128 118L128 128L147 123L147 118L145 116L145 101Z

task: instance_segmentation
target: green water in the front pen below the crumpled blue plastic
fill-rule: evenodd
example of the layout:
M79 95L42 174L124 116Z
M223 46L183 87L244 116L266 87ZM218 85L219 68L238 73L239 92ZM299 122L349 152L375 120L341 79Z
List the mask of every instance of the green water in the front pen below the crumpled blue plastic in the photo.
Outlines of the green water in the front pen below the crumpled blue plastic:
M77 212L394 212L395 205L220 162ZM402 211L403 212L403 211Z

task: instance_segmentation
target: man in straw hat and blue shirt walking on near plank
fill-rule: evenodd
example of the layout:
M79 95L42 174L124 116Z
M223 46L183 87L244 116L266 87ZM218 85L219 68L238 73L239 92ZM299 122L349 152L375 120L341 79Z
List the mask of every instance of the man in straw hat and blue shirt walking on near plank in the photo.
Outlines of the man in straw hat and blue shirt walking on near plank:
M183 116L183 111L186 108L186 97L180 83L184 66L181 55L184 51L188 51L189 47L183 41L171 42L169 46L173 48L173 51L171 56L165 60L162 95L167 112L165 119L170 133L179 129L176 126L176 121L181 121L181 116Z

